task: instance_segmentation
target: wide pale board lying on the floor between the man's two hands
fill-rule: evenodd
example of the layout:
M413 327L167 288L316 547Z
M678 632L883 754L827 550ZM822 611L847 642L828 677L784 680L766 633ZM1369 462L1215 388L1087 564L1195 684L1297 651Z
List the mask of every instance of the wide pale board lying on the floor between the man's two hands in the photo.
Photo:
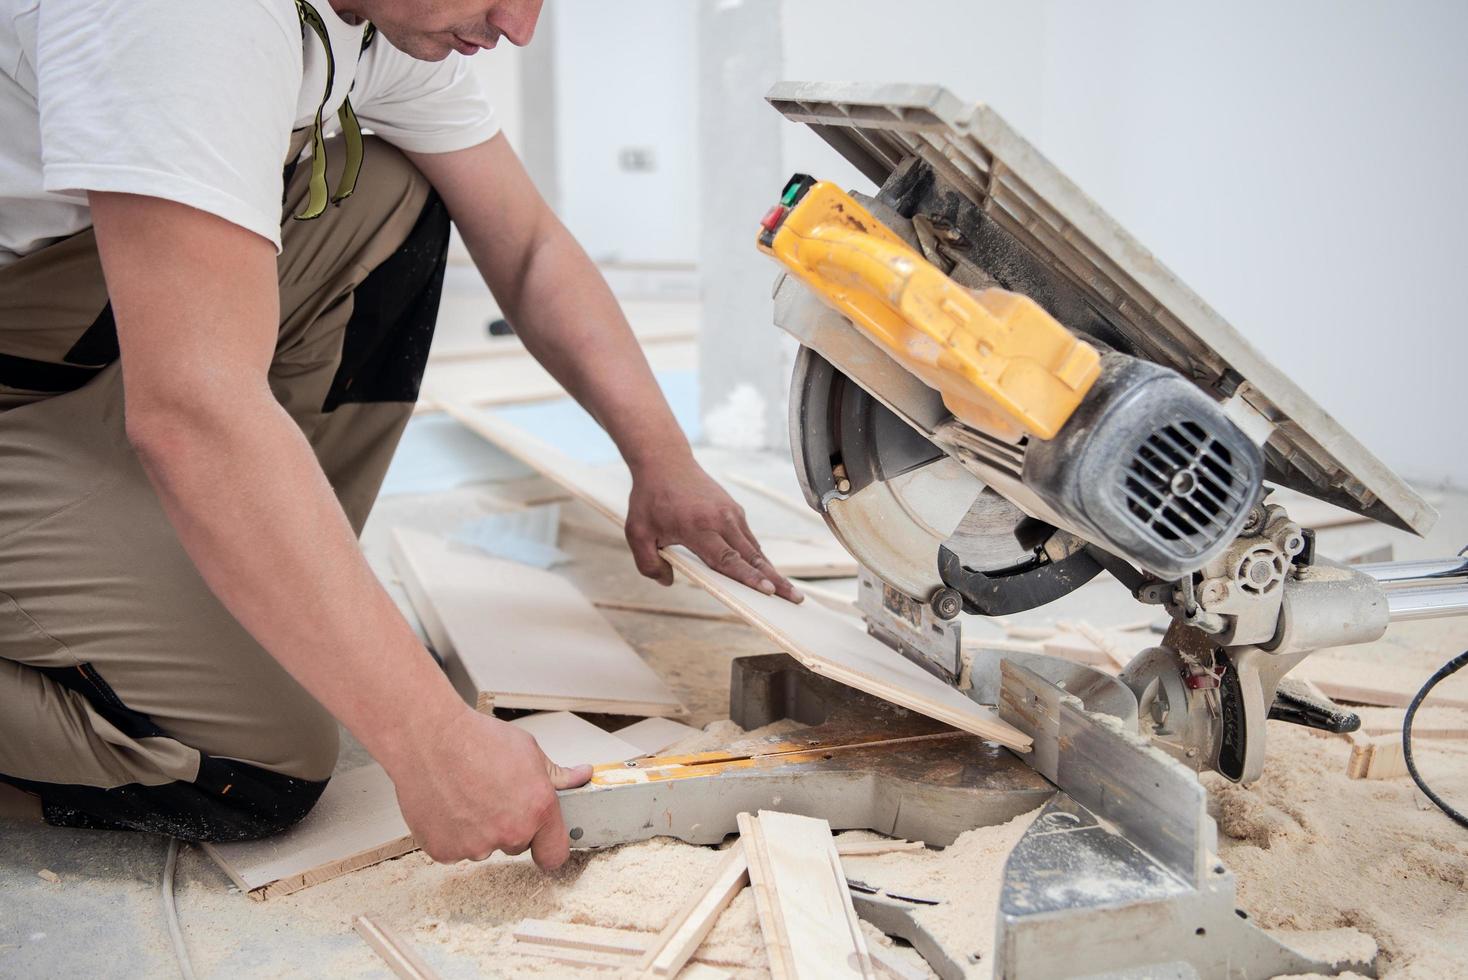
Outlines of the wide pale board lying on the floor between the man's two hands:
M393 563L443 669L470 704L678 714L662 678L567 579L393 530Z

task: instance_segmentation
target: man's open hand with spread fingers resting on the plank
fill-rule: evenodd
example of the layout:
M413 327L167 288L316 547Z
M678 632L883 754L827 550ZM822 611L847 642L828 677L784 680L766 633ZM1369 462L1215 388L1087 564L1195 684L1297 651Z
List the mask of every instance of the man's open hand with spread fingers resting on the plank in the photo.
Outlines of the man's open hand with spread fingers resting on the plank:
M705 565L737 582L793 603L804 599L760 553L759 541L744 522L744 508L734 503L693 456L633 468L627 544L637 571L664 585L672 585L672 566L662 560L658 549L684 544Z

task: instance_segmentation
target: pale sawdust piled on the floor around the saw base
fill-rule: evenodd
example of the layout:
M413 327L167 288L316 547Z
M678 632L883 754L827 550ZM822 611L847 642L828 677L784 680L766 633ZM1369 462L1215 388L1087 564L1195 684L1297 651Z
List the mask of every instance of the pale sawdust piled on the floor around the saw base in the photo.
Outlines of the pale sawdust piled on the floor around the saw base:
M1453 723L1442 712L1436 722ZM781 722L743 732L718 722L684 739L675 751L706 751L799 728ZM1249 788L1207 778L1220 849L1239 880L1239 905L1257 924L1277 930L1302 952L1346 959L1371 945L1383 952L1389 977L1468 976L1468 835L1436 810L1424 810L1408 779L1353 780L1345 776L1349 744L1270 722L1264 779ZM1468 742L1420 747L1424 773L1445 795L1468 800ZM942 851L849 857L847 873L888 891L937 899L920 921L964 964L966 976L991 974L994 915L1004 860L1033 813L964 833ZM854 839L875 838L853 832ZM260 914L289 918L317 932L342 935L338 959L314 964L321 974L360 973L371 954L351 935L351 920L367 914L402 935L439 964L470 967L484 977L615 976L514 951L512 930L524 917L655 932L713 871L716 848L658 838L597 852L577 851L558 871L543 874L526 858L496 857L482 864L436 866L421 854L389 861L270 899ZM191 889L188 918L208 908L244 902L220 886L211 895ZM866 927L872 942L875 930ZM910 948L894 952L923 967ZM213 951L194 943L210 973ZM753 896L746 889L719 917L699 959L740 979L768 976Z

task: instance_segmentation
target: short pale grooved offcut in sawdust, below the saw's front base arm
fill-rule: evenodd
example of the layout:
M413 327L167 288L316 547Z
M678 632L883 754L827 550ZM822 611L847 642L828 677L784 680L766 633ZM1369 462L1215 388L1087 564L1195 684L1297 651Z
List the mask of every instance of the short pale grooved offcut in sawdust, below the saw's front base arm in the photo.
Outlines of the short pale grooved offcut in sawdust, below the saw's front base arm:
M771 810L738 823L772 976L875 977L831 824Z

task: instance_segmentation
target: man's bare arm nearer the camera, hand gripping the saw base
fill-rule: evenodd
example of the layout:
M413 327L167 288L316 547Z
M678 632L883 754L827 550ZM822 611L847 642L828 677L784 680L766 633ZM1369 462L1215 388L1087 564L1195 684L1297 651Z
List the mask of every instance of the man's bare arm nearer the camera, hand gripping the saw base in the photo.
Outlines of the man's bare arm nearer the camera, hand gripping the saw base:
M310 445L267 384L270 242L182 204L92 194L117 321L128 437L179 540L229 612L398 786L433 857L534 844L565 860L549 766L455 694L377 582Z

